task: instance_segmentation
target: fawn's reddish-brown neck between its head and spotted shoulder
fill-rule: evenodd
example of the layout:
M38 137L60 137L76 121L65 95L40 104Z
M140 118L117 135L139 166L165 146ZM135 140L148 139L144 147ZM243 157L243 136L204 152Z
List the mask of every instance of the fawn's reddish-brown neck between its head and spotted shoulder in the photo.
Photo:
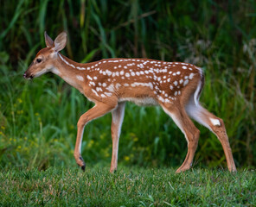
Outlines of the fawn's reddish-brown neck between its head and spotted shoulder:
M64 79L67 84L74 86L80 92L83 92L85 84L85 72L81 68L85 68L87 64L77 63L68 59L61 53L57 53L56 61L51 72Z

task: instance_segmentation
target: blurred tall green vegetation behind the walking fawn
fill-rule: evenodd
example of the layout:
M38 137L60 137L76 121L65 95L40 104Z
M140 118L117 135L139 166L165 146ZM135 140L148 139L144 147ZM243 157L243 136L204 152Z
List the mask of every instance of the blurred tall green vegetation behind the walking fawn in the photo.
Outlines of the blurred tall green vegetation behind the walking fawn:
M202 104L227 127L237 166L256 165L256 3L230 1L0 0L0 165L76 166L76 122L93 106L61 78L22 78L45 47L68 34L67 57L184 61L206 73ZM111 116L86 126L82 155L90 165L109 165ZM195 166L226 166L220 142L202 131ZM128 103L120 137L119 163L179 166L186 141L160 108ZM107 163L107 164L106 164Z

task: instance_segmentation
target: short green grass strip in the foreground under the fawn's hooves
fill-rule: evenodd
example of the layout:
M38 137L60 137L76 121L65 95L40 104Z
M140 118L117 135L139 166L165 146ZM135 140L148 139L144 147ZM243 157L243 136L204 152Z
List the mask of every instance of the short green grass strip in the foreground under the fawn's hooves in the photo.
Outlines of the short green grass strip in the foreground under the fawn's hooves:
M3 168L1 206L255 206L254 170Z

